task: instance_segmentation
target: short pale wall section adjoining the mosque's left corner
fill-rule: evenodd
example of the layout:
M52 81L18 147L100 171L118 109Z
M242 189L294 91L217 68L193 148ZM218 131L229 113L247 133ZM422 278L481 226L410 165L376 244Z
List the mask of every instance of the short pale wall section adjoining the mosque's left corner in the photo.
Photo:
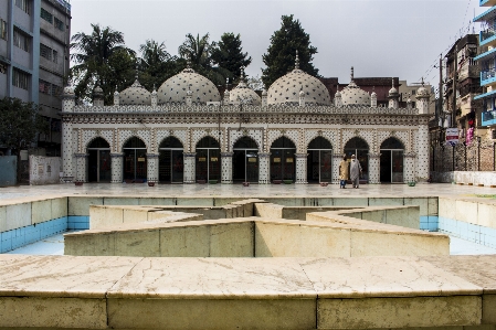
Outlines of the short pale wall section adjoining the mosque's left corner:
M30 184L60 183L62 159L60 157L30 156Z

